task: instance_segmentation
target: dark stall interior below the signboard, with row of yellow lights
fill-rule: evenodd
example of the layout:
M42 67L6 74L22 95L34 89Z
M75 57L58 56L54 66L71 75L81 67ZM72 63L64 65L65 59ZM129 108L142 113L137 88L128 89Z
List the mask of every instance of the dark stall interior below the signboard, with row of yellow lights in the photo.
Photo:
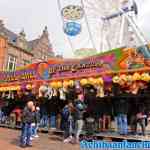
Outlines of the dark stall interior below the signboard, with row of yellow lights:
M20 126L22 110L27 101L32 100L40 107L41 128L63 130L63 108L68 102L74 105L80 98L86 105L83 114L85 131L137 134L139 124L142 129L139 133L145 135L150 116L149 73L43 82L34 88L31 84L23 90L1 91L1 124Z

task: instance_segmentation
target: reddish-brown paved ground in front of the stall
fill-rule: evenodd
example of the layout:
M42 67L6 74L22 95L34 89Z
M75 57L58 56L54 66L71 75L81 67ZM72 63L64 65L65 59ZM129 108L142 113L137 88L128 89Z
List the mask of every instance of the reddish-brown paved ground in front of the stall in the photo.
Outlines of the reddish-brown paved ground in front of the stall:
M21 150L19 147L20 131L0 128L0 150ZM58 136L40 134L40 138L33 141L32 148L25 150L79 150L79 145L64 144Z

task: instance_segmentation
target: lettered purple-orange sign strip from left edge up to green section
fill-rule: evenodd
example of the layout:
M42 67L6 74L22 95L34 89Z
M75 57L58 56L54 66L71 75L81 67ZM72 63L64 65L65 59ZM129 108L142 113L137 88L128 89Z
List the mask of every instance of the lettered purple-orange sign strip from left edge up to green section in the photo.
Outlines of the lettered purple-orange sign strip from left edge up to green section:
M0 72L0 82L31 81L31 80L59 80L62 78L80 78L87 75L100 75L105 71L112 71L117 66L115 53L97 55L85 59L64 60L50 64L42 62L15 72Z

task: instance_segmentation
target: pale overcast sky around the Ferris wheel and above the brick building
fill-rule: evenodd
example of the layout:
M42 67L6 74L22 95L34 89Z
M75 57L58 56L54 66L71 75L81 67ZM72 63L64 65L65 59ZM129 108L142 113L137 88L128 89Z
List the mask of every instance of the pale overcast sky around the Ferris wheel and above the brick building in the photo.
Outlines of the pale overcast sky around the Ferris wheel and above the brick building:
M65 1L66 4L73 2L60 1ZM78 0L74 2L77 3ZM140 27L150 39L150 0L137 0L137 4ZM63 53L65 57L72 56L72 50L62 30L57 0L0 0L0 18L4 20L5 26L16 33L24 28L27 39L37 38L47 25L55 52Z

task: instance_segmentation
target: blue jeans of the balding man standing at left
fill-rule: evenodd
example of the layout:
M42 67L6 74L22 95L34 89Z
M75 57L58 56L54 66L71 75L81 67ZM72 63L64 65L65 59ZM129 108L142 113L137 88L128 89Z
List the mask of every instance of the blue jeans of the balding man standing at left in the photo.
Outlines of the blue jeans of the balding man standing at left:
M21 145L31 145L31 137L32 131L31 131L31 123L23 123L22 124L22 130L21 130Z

